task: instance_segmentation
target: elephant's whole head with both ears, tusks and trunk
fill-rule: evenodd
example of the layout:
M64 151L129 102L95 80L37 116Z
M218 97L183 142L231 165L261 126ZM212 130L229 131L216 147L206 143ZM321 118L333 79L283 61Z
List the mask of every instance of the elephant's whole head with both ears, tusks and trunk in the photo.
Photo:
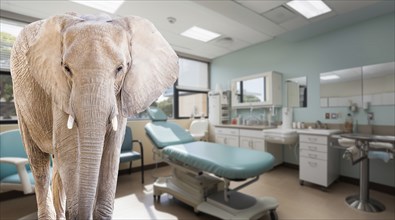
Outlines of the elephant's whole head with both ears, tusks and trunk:
M32 34L28 71L78 131L79 214L89 218L108 133L119 128L119 116L145 110L175 82L178 57L139 17L55 16ZM54 126L67 129L66 120Z

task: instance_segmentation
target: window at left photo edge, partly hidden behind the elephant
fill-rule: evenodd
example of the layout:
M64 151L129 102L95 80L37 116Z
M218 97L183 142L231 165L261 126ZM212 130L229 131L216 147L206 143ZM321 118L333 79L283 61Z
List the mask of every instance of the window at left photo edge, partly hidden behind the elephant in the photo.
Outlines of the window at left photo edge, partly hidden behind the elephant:
M0 18L0 122L15 122L16 111L10 75L11 48L26 23Z

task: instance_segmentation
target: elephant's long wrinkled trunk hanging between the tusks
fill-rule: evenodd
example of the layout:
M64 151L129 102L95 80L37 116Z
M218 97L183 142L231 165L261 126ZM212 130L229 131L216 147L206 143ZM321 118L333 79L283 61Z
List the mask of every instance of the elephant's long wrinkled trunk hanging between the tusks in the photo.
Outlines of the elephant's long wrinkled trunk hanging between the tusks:
M78 97L75 97L72 104L80 141L78 186L80 219L93 218L105 136L107 130L111 129L111 118L117 115L114 90L108 84L108 82L88 82L79 85L78 90L75 91ZM117 122L113 123L113 128L114 124Z

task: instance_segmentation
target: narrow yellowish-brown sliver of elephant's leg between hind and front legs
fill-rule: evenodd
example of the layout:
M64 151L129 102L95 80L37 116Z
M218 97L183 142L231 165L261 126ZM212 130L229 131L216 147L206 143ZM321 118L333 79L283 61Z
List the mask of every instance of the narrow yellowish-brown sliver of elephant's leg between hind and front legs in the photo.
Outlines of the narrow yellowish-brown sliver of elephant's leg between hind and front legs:
M52 168L52 194L53 202L55 206L56 219L65 219L65 205L66 205L66 194L63 189L62 180L57 168L57 162L54 160Z

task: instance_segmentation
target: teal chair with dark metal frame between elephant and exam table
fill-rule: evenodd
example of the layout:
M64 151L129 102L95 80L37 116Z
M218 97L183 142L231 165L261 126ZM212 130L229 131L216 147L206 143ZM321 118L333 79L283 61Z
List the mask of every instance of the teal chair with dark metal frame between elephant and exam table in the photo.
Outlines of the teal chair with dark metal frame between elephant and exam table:
M140 153L133 150L134 143L140 145ZM144 183L144 149L143 144L139 140L133 140L132 129L126 126L125 139L122 143L120 163L129 162L129 174L132 173L132 162L141 160L141 183Z

